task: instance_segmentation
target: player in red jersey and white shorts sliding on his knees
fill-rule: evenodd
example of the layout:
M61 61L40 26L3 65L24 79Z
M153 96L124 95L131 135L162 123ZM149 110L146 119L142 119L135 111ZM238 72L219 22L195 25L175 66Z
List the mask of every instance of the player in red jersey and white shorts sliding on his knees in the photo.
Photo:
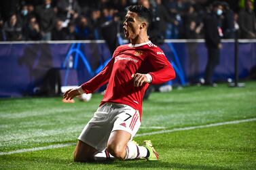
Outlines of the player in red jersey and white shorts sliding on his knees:
M175 71L163 51L148 39L150 21L147 8L128 7L124 34L131 43L117 47L113 58L98 75L63 95L69 100L109 83L94 117L78 137L74 161L94 161L95 155L103 151L107 158L111 154L121 160L158 160L150 141L145 141L144 146L132 142L141 125L143 95L149 83L164 83L175 78Z

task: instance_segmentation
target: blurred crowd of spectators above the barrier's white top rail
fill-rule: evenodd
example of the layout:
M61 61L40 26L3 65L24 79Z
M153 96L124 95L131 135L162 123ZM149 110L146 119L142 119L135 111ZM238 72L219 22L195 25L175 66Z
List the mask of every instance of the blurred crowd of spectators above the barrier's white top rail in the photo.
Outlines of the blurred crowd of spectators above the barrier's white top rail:
M151 10L151 37L158 39L204 38L204 16L212 12L213 1L196 0L9 0L1 2L0 41L92 40L104 39L105 26L123 37L122 22L128 5L144 5ZM222 38L256 38L254 2L221 1Z

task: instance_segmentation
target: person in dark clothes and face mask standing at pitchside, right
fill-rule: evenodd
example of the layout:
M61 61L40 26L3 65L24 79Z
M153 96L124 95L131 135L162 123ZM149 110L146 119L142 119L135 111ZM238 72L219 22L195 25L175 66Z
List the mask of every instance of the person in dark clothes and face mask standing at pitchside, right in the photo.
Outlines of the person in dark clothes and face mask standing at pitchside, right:
M208 50L208 61L204 75L204 85L211 85L213 87L217 86L216 83L213 83L212 77L215 67L219 64L221 37L223 36L220 19L222 13L223 7L220 2L216 1L213 3L211 13L204 18L204 39Z

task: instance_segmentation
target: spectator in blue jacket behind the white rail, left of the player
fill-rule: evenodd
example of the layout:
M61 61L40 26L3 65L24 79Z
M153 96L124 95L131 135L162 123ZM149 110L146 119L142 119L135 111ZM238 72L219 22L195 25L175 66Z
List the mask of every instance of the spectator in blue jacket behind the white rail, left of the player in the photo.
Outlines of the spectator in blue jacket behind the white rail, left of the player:
M85 16L80 17L79 24L75 27L75 33L77 40L93 39L92 28L90 28Z

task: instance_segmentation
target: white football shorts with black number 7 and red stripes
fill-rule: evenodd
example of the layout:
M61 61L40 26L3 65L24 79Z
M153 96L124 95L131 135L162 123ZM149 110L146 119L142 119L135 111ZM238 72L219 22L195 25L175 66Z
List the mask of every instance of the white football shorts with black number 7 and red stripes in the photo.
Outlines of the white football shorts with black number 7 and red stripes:
M105 103L98 107L93 118L81 131L78 140L102 151L107 147L112 131L127 131L131 134L130 140L132 140L140 126L138 110L126 104Z

